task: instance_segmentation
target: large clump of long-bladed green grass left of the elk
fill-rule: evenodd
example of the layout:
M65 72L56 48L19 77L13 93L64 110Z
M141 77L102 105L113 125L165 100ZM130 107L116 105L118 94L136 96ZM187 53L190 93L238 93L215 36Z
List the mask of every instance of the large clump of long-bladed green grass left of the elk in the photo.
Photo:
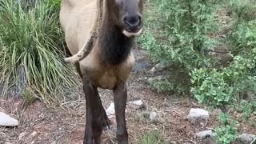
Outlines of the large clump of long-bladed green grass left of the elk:
M46 104L60 102L78 82L63 65L64 42L58 11L47 1L24 10L22 2L2 0L0 8L0 83L2 95L33 94ZM62 97L60 97L62 96Z

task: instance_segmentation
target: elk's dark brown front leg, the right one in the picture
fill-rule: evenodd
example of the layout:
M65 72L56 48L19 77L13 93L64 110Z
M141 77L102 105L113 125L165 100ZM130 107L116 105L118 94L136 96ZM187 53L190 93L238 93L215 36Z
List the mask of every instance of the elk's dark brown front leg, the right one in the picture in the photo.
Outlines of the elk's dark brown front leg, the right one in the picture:
M118 144L128 144L128 133L126 130L126 82L121 82L114 90L114 109L117 120L117 139Z

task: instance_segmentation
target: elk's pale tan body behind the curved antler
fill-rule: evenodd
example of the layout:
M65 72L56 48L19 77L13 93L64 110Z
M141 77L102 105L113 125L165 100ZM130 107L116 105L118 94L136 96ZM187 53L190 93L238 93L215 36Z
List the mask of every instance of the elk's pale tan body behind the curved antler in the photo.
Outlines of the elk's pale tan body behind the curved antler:
M96 0L62 0L60 23L71 54L82 49L96 20Z

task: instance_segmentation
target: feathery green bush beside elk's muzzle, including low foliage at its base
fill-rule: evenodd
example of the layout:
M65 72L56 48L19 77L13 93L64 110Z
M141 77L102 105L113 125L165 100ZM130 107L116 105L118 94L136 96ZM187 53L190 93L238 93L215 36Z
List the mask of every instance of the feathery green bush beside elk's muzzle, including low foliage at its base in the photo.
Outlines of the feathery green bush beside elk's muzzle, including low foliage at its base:
M159 0L149 1L148 6L145 22L148 24L138 42L149 51L154 62L178 66L177 70L184 76L183 79L172 77L170 82L150 84L157 90L187 94L190 70L215 65L213 58L206 57L215 45L209 34L218 28L214 22L215 3L210 0Z

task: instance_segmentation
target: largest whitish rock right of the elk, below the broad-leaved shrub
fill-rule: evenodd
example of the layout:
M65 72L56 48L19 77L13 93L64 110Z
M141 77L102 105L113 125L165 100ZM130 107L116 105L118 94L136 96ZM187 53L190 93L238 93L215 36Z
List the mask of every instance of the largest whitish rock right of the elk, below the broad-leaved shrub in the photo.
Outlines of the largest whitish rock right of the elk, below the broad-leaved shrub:
M210 114L208 113L207 110L192 108L186 118L188 118L190 121L193 121L196 119L209 119Z

